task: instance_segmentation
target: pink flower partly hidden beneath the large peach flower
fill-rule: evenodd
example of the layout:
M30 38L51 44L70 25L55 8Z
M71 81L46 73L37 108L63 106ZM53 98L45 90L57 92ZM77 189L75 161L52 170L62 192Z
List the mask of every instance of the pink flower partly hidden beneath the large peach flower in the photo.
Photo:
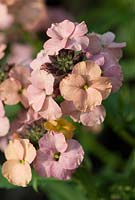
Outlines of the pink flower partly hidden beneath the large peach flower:
M90 112L81 112L76 109L73 102L63 101L61 103L61 109L63 115L70 116L74 121L81 122L84 126L96 126L104 121L106 112L104 107L96 106Z

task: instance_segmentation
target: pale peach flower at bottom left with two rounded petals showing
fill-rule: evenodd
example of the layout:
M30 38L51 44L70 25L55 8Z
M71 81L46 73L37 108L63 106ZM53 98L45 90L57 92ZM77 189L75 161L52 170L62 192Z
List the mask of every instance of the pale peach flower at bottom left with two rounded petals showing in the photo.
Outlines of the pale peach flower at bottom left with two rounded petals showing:
M7 161L2 166L2 174L14 185L25 187L32 174L30 164L36 156L36 150L29 140L11 140L5 149Z

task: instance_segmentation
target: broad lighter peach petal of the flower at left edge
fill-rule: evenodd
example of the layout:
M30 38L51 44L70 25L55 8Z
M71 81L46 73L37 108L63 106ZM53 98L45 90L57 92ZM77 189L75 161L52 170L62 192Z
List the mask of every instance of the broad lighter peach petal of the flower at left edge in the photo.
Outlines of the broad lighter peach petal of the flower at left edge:
M0 84L0 98L5 104L15 105L20 101L21 84L15 79L6 79Z

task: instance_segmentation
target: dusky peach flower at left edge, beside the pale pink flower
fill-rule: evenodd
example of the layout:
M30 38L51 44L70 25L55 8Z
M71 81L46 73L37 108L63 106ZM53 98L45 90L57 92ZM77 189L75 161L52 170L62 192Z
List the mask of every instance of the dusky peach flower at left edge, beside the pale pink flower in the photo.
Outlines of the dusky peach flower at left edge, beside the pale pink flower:
M15 105L21 102L28 107L27 87L30 70L25 67L15 66L9 72L9 78L0 84L0 98L5 104Z

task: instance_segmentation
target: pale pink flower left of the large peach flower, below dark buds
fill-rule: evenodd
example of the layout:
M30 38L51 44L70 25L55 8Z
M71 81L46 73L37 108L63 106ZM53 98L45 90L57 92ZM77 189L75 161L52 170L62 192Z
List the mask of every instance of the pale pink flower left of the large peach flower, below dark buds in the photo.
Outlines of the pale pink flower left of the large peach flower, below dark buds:
M52 98L53 75L44 70L34 70L31 74L31 83L27 92L32 108L48 120L59 118L61 109Z

